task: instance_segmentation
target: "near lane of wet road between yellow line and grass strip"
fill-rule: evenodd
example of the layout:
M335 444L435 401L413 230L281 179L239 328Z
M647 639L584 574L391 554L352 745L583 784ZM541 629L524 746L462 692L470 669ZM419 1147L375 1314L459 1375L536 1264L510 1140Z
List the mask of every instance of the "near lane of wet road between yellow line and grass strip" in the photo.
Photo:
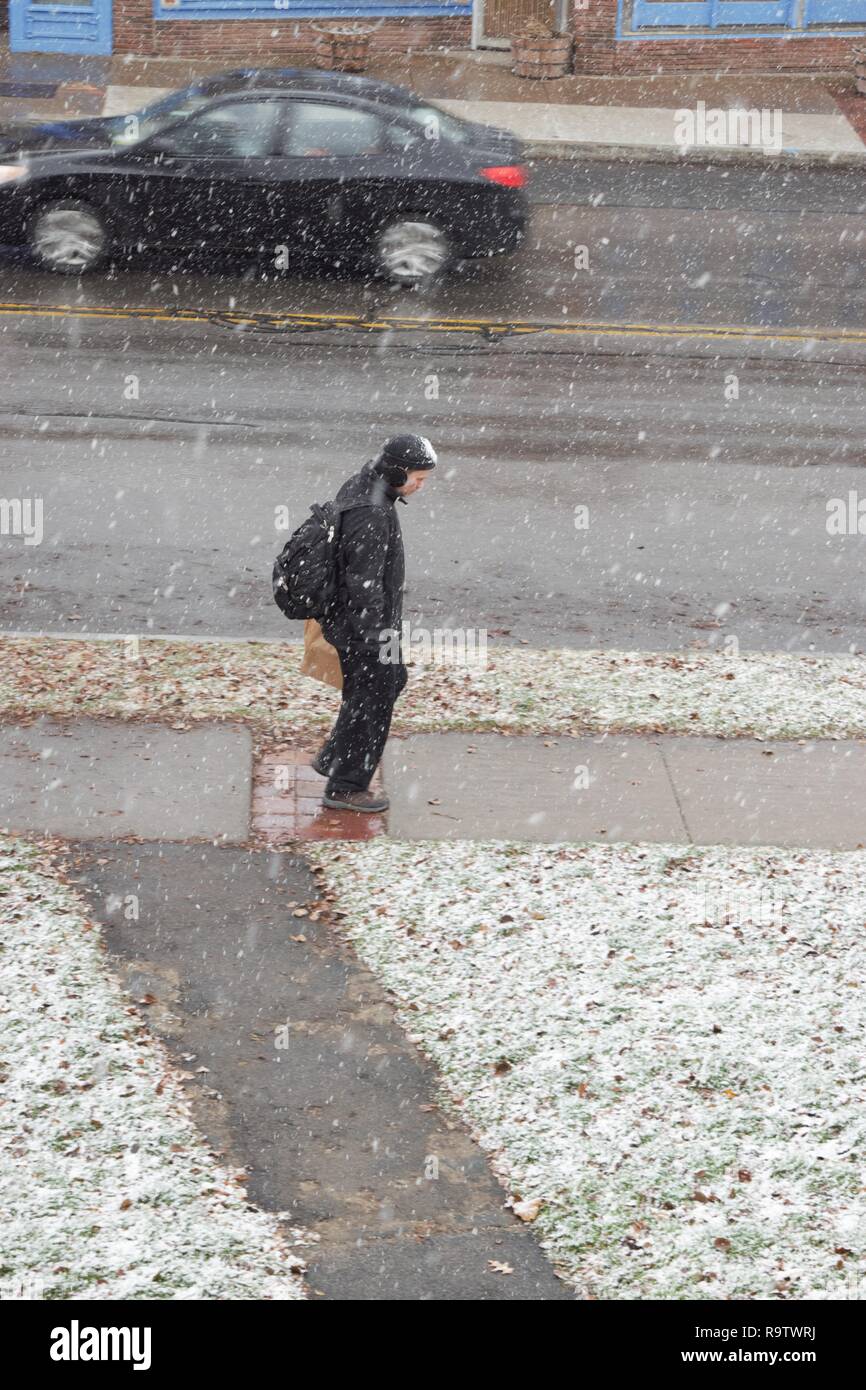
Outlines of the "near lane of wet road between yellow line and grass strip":
M6 320L0 343L4 495L44 513L40 545L0 543L4 631L299 641L271 602L277 509L297 525L413 423L443 464L402 509L416 627L866 648L862 538L827 531L862 488L853 363L65 318Z

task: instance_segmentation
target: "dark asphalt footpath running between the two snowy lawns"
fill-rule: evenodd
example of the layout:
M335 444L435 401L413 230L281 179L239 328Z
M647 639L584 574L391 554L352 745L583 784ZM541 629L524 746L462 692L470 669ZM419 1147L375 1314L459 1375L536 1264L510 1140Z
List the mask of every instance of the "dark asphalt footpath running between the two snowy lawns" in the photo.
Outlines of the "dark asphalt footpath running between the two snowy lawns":
M249 1169L254 1202L317 1241L311 1297L574 1300L438 1108L382 987L332 927L292 916L318 901L303 860L111 842L70 859L111 963L189 1076L200 1129Z

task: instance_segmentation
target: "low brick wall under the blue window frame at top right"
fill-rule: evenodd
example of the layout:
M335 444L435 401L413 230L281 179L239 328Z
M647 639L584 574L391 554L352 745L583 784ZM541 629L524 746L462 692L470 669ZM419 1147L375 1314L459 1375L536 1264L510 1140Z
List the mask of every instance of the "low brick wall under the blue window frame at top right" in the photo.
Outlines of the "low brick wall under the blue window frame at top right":
M828 72L851 67L860 38L639 39L616 42L616 0L589 0L574 11L577 72Z

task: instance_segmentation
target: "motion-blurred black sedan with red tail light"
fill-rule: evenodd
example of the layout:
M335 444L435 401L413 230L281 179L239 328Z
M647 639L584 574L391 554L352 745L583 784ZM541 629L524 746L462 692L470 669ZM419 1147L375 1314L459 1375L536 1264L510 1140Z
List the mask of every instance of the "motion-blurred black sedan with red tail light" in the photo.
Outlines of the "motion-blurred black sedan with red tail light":
M514 136L343 74L227 72L133 115L0 128L0 242L78 275L168 246L279 268L300 249L414 285L513 252Z

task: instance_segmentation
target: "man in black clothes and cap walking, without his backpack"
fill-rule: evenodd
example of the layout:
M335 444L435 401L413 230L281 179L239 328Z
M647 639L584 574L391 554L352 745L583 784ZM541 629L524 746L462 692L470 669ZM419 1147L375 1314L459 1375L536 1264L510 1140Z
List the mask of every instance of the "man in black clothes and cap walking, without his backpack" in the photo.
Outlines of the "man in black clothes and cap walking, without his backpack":
M396 502L418 492L436 464L430 439L395 435L378 459L343 482L336 550L336 591L321 619L336 648L343 701L313 767L328 778L322 805L382 812L388 796L370 791L382 756L395 701L406 685L403 662L382 662L382 642L403 619L403 538ZM398 644L399 645L399 644Z

